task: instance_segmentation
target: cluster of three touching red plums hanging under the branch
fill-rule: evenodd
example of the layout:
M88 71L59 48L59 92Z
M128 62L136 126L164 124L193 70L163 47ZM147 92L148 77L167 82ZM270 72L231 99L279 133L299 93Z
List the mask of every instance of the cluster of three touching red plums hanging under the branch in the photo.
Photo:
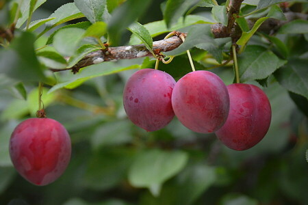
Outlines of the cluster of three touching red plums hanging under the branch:
M216 133L233 150L255 146L270 126L266 94L255 85L224 85L214 73L198 70L177 83L170 74L145 68L127 81L123 104L129 119L146 131L157 131L177 115L196 133Z

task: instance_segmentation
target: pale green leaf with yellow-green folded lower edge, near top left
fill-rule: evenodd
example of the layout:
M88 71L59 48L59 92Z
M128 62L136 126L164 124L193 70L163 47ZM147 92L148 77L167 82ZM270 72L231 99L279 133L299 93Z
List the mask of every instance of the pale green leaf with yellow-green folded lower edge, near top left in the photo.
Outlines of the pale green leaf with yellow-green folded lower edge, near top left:
M66 3L62 5L60 8L57 8L49 18L55 18L51 21L49 21L47 25L47 29L51 29L52 27L56 27L57 25L60 25L62 23L66 23L69 20L74 20L77 18L84 17L84 14L82 14L76 5L74 3Z

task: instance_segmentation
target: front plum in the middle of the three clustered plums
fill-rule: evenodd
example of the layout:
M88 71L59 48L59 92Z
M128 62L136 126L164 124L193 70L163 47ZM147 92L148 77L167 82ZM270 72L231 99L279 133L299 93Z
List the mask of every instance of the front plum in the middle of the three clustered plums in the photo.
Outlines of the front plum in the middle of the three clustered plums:
M190 72L175 84L172 107L179 121L190 130L213 133L227 120L227 87L213 72Z

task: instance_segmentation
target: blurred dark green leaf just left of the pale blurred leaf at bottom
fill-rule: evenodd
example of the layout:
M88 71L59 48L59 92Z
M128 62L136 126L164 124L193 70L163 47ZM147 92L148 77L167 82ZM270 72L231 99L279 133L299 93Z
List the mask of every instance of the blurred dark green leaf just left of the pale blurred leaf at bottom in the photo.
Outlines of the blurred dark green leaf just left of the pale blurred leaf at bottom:
M104 134L105 135L105 134ZM94 152L86 169L84 185L95 190L107 190L125 180L135 152L131 149L107 149Z

